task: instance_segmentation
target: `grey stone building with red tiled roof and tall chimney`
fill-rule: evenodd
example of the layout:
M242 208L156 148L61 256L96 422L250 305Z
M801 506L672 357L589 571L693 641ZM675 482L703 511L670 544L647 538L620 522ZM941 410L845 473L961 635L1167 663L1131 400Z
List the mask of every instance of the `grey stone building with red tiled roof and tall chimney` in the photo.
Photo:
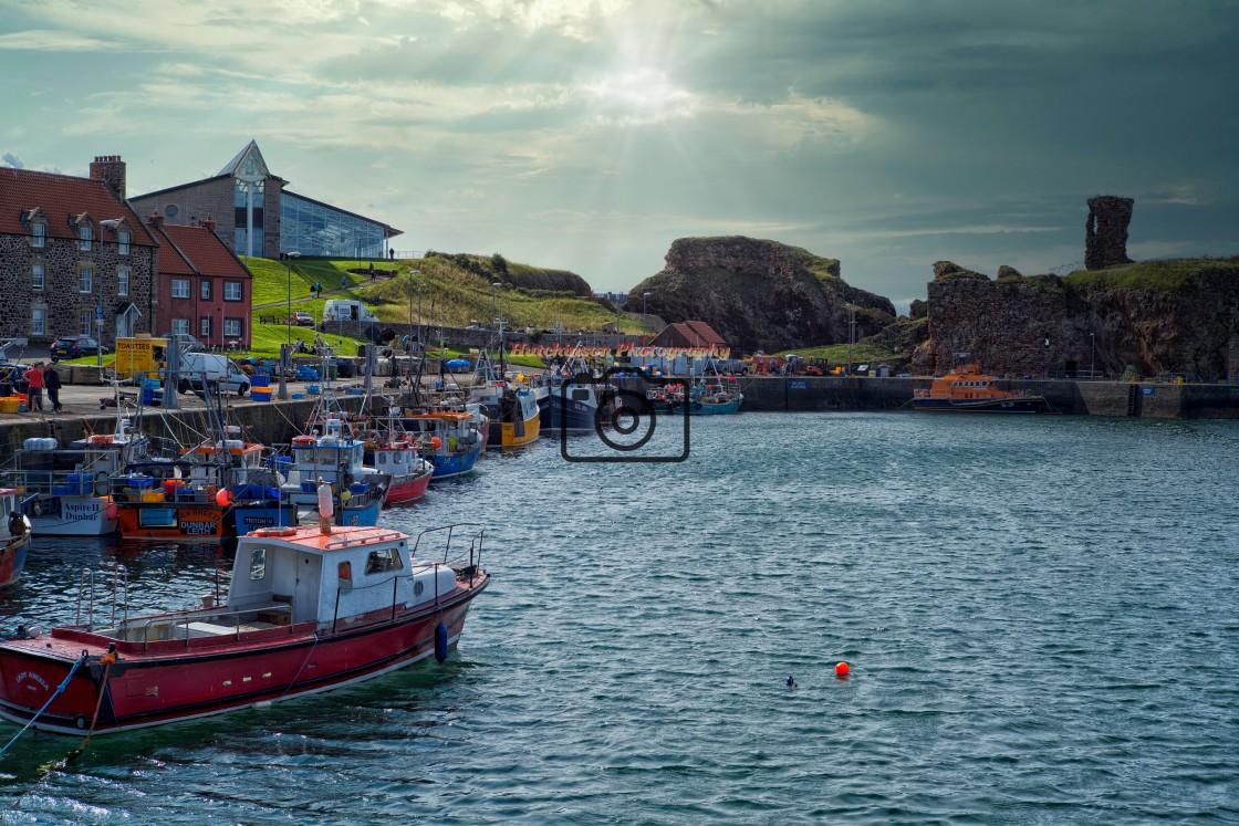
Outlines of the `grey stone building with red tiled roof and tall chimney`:
M154 332L159 243L125 202L125 165L94 159L90 177L0 168L0 338Z

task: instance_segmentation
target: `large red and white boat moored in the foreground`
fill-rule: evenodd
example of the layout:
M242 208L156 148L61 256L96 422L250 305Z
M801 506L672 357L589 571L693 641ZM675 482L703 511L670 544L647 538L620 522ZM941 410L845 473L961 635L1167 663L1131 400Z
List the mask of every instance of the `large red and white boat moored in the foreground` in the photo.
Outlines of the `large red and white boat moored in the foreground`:
M446 659L489 582L482 528L410 541L384 528L332 526L325 515L317 526L242 536L221 604L207 596L197 609L118 623L115 604L97 622L97 603L79 601L89 615L74 624L0 643L0 716L67 734L115 732Z

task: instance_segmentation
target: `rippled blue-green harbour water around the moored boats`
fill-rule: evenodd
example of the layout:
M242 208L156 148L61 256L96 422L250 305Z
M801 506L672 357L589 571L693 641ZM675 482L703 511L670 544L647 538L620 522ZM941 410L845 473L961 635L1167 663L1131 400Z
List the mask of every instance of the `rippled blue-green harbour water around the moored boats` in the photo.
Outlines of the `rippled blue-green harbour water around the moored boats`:
M1072 416L742 414L669 464L543 440L388 511L488 525L446 664L68 763L27 732L0 822L1239 822L1235 456L1234 422ZM83 565L136 613L229 559L40 540L0 627L71 620Z

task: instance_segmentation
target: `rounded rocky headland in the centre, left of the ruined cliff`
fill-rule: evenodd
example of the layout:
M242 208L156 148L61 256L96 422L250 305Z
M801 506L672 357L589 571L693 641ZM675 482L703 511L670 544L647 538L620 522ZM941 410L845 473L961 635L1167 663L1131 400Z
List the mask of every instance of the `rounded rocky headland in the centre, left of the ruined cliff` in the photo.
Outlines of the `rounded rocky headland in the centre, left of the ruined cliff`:
M839 261L798 246L743 238L681 238L667 266L632 289L642 306L669 322L699 320L745 352L777 352L846 342L895 322L888 298L849 286ZM646 297L644 293L649 293Z

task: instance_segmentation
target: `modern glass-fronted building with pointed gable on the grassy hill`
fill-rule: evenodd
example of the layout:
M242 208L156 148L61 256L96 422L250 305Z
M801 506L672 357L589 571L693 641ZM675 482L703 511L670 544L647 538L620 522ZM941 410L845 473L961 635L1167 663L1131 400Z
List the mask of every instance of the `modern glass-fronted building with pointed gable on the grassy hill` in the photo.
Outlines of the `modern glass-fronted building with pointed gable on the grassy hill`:
M237 255L280 258L281 253L330 258L387 258L388 224L285 188L250 141L218 175L130 198L142 214L165 225L195 227L212 220Z

